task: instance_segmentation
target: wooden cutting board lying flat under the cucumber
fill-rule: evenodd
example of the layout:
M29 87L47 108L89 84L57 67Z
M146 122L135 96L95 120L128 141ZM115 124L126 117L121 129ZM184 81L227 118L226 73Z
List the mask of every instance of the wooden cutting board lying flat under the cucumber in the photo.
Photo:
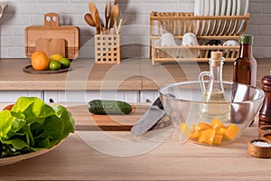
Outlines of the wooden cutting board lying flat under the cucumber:
M76 130L111 130L111 131L130 131L135 122L140 119L148 105L133 105L133 111L128 115L96 115L89 113L87 106L68 107L75 119ZM162 129L171 125L170 119L164 116L160 123L154 125L153 129Z

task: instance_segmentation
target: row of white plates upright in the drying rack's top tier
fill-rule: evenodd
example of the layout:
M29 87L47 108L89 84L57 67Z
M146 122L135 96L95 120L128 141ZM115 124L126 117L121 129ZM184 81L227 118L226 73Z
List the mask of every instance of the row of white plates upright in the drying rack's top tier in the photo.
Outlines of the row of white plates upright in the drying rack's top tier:
M246 15L248 14L248 0L195 0L194 15ZM239 34L244 26L244 21L238 24L236 20L203 21L201 30L197 35ZM200 22L197 23L198 27Z

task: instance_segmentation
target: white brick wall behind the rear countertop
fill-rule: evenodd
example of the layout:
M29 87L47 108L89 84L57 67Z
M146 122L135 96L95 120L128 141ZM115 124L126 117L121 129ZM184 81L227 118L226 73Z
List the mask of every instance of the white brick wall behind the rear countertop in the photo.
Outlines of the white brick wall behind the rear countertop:
M1 2L5 2L0 0ZM84 22L89 0L9 0L5 14L0 19L0 57L23 58L24 28L42 25L43 14L60 14L61 24L77 25L80 29L80 57L94 57L94 28ZM106 0L94 0L103 17ZM125 16L123 31L123 57L148 57L149 14L151 11L192 12L193 0L119 0L121 13ZM247 33L255 35L254 55L271 57L271 1L250 0ZM134 25L133 25L134 24ZM140 24L140 26L135 26Z

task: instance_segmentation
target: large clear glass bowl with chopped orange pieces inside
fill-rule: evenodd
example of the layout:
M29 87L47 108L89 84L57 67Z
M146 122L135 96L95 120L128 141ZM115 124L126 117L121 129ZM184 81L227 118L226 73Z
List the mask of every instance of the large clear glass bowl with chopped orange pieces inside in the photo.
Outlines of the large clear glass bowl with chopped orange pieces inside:
M205 87L209 81L204 82ZM181 142L220 146L241 136L257 115L264 100L263 90L223 81L227 101L203 102L201 81L185 81L159 90L166 114L177 127ZM180 131L180 132L179 132Z

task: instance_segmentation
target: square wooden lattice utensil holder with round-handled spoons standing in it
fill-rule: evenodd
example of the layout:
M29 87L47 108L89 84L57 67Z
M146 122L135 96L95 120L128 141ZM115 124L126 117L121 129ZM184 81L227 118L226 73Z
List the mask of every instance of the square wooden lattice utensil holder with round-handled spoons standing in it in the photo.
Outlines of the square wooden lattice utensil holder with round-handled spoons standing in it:
M95 35L95 62L120 63L119 34Z

